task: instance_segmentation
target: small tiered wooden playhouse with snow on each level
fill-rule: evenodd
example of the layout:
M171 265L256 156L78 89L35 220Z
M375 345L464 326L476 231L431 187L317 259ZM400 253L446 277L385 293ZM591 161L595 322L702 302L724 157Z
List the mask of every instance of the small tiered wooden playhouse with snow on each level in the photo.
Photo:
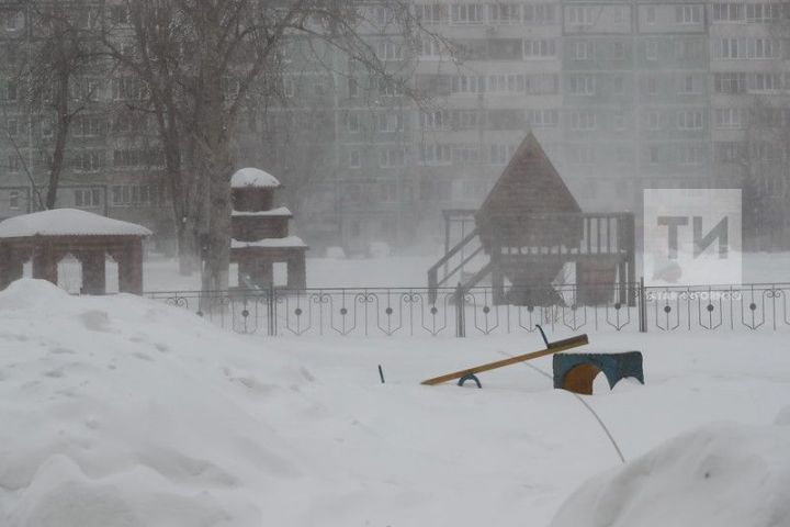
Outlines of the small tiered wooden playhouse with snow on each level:
M238 284L244 289L267 289L274 284L274 265L285 264L289 289L306 287L305 253L308 247L289 234L293 214L285 206L273 208L280 181L255 168L237 171L230 181L234 212L230 261L238 264Z

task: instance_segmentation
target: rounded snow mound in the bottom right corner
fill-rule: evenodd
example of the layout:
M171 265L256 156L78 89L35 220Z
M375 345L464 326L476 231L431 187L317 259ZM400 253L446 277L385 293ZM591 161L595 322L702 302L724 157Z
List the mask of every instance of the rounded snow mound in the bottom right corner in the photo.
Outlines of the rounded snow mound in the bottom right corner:
M698 428L583 484L552 527L790 525L788 446L787 426Z

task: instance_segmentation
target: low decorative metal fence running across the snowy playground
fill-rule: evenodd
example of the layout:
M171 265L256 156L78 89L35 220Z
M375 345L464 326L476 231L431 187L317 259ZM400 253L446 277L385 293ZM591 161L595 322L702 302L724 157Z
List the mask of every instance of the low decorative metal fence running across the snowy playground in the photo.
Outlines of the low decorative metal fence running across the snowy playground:
M455 336L549 332L790 328L790 283L652 288L641 283L509 290L270 289L146 296L222 327L263 335ZM494 299L509 303L495 303Z

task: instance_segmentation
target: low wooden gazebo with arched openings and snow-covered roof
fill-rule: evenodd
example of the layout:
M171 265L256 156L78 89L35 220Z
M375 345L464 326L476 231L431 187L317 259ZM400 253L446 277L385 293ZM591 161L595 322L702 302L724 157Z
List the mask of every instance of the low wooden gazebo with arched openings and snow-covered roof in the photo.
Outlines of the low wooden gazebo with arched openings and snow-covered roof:
M105 292L105 260L119 265L119 290L143 292L143 238L151 232L134 223L76 209L55 209L0 223L0 288L23 277L33 260L33 278L58 282L57 265L72 255L82 265L82 293Z

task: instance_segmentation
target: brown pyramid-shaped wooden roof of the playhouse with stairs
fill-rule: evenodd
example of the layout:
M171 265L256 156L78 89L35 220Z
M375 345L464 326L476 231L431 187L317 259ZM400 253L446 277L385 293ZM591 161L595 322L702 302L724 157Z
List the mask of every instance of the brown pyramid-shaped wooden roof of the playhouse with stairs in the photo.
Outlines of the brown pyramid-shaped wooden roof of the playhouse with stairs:
M556 212L582 212L582 209L530 132L477 211L477 223L501 216Z

